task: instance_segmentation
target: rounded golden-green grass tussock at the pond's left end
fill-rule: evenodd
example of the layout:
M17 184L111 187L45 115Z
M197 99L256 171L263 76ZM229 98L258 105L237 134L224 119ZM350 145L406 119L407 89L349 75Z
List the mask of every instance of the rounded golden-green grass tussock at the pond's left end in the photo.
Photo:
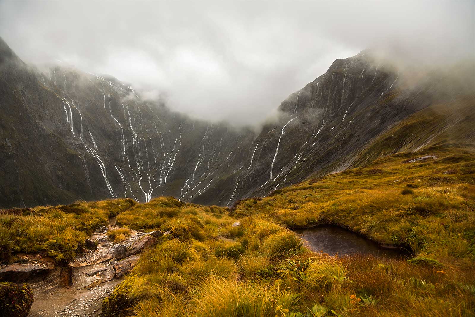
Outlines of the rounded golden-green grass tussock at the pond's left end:
M262 243L261 250L271 258L281 258L288 254L302 251L303 241L292 231L284 230L268 236Z

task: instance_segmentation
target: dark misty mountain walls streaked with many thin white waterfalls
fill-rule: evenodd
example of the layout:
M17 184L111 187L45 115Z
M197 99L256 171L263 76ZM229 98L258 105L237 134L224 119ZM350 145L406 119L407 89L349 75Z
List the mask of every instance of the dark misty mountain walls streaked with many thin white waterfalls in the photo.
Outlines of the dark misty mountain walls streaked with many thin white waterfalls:
M231 206L442 140L474 144L473 92L440 89L450 84L409 86L362 51L256 133L175 113L111 76L40 71L0 38L0 207L161 195Z

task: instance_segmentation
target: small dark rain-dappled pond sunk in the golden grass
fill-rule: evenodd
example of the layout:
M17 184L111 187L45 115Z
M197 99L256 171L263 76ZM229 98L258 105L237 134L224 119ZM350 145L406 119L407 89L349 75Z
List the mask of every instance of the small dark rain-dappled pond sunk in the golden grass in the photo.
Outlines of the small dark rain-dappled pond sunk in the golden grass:
M377 257L400 258L406 253L399 249L385 249L352 231L336 226L324 225L308 229L296 229L310 249L329 255L372 254Z

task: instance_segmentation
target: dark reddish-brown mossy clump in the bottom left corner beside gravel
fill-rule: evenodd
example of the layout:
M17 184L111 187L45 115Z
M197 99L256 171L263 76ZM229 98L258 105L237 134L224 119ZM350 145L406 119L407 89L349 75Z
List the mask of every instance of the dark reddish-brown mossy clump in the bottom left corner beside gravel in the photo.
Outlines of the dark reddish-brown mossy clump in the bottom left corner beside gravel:
M33 292L28 284L0 283L0 317L26 317L33 305Z

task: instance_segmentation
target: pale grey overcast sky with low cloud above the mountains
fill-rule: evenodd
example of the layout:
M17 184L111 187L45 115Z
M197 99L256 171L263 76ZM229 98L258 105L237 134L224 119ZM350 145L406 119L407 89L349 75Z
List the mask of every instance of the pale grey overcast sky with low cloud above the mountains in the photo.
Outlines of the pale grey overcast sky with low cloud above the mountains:
M365 48L473 58L475 1L388 2L0 0L0 36L28 63L61 60L195 117L256 124Z

